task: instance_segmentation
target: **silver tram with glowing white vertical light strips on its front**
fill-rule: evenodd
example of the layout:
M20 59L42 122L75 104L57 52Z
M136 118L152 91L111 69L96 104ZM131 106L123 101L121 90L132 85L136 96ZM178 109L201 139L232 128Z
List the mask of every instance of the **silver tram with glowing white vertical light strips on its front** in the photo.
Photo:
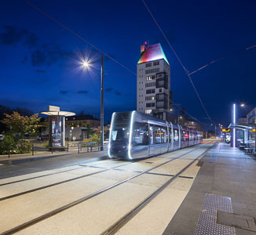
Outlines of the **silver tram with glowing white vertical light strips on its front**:
M202 132L137 111L112 114L108 157L133 160L201 143Z

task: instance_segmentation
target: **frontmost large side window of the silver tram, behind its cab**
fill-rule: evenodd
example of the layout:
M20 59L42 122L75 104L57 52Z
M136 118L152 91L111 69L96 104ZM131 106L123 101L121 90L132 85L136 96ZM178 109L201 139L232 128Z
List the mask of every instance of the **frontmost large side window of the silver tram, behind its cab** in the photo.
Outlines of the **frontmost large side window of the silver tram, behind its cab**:
M135 121L133 124L133 143L148 145L149 141L148 124Z

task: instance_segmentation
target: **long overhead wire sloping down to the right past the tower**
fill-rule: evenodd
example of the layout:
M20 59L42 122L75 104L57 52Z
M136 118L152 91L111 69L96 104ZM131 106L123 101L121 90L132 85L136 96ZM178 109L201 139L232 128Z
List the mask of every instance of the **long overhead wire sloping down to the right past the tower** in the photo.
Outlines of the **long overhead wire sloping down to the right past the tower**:
M212 119L210 118L210 115L208 114L207 109L206 109L206 107L204 106L203 101L202 101L202 99L200 98L199 93L198 93L197 90L196 90L196 86L194 85L194 83L193 83L193 81L192 81L192 78L190 77L187 68L186 68L185 65L181 62L181 59L179 58L179 56L177 56L177 53L175 52L173 46L170 44L168 38L166 38L166 34L164 34L162 28L159 26L158 22L155 20L155 17L153 16L151 10L148 8L148 5L146 4L146 2L144 2L144 0L142 0L142 2L144 3L145 8L148 10L148 13L150 14L150 16L152 16L152 20L154 20L155 24L156 24L157 27L159 28L159 31L163 34L163 38L166 39L166 42L167 42L167 44L170 46L170 49L172 50L172 52L174 52L174 55L176 56L178 62L181 64L181 67L184 69L185 74L187 74L188 79L189 79L189 81L191 82L191 85L192 85L194 91L196 92L196 96L197 96L197 98L199 99L199 102L201 103L204 112L207 114L207 117L209 118L209 120L214 124L214 121L212 121Z

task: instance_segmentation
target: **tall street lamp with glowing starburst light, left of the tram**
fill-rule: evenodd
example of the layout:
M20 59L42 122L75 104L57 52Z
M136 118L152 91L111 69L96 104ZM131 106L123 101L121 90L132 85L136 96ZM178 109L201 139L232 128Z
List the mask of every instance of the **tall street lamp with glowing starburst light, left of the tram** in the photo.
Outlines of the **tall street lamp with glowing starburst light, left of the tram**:
M104 89L103 89L103 54L101 54L101 60L88 62L82 61L82 67L90 67L93 63L101 63L101 151L104 150Z

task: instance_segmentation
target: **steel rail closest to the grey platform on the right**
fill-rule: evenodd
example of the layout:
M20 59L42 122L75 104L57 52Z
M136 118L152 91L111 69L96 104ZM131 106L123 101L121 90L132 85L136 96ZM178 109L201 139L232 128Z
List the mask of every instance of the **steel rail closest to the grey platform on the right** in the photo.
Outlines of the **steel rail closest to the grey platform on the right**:
M174 181L174 179L177 179L177 177L179 175L181 175L183 172L185 172L185 170L187 168L189 168L195 161L197 161L199 159L199 157L203 157L205 154L207 154L207 152L212 147L213 146L211 146L209 149L205 150L203 152L203 154L200 154L198 157L196 157L194 160L192 160L189 164L187 164L185 166L185 168L182 168L180 172L177 172L177 174L174 175L174 177L172 177L166 183L164 183L163 186L160 186L159 189L155 190L155 192L153 192L148 197L146 197L146 199L144 199L144 201L141 201L141 203L137 204L137 206L135 208L133 208L128 213L126 213L126 215L124 215L121 219L119 219L117 222L115 222L112 226L108 227L108 229L105 230L103 233L101 233L101 235L110 235L110 234L114 234L115 232L117 232L121 227L123 227L126 224L126 222L130 221L130 219L132 219L134 215L137 215L137 213L139 211L141 211L141 209L144 208L144 206L146 204L148 204L150 201L152 201L153 198L155 198L159 193L161 193L166 188L166 186L168 186L170 183L172 183Z

